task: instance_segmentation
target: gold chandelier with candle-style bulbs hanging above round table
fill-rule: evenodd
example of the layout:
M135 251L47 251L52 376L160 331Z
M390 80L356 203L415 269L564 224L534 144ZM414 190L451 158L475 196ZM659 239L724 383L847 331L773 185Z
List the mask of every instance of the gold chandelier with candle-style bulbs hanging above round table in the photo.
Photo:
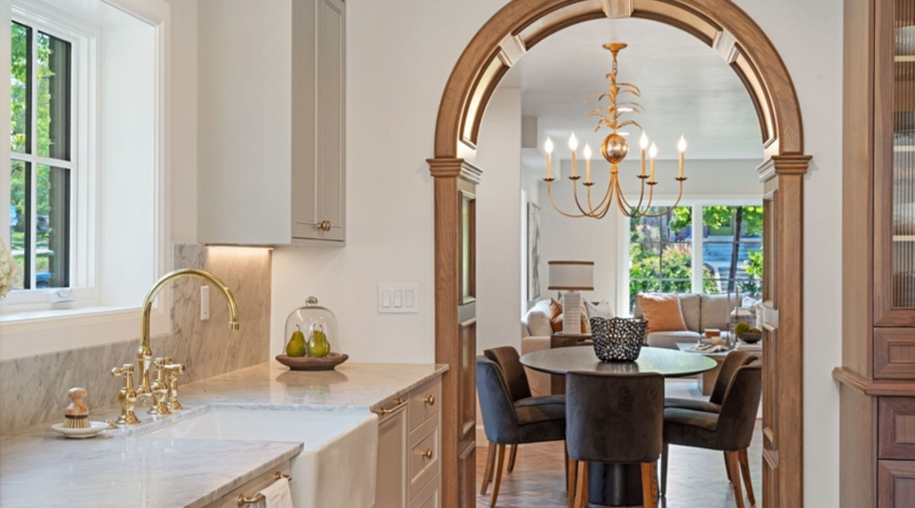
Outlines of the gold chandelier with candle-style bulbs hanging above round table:
M648 136L645 135L644 130L641 133L640 147L641 147L641 172L637 175L641 181L641 190L639 194L639 201L634 206L623 196L622 189L619 186L619 169L618 164L626 158L626 155L629 153L629 144L626 143L626 139L617 132L619 129L627 125L635 125L641 129L641 125L634 120L623 120L620 121L620 117L627 112L642 112L644 109L638 102L622 102L618 103L617 98L621 93L630 93L636 97L640 97L639 88L631 83L617 83L617 54L622 48L626 48L626 44L619 42L611 42L604 45L604 48L608 49L610 53L613 54L613 70L607 75L610 79L608 85L608 93L601 93L597 98L597 101L600 101L604 98L608 98L610 104L607 107L605 112L602 108L595 108L593 111L588 113L588 116L597 116L600 118L600 122L597 122L597 128L595 132L601 127L609 127L611 133L604 138L604 142L600 145L600 153L604 155L604 158L607 159L607 162L610 163L610 181L607 188L607 193L600 200L597 205L592 204L591 200L591 186L594 185L594 182L591 181L591 147L587 144L585 145L585 183L587 187L587 201L585 205L581 203L578 198L578 180L581 179L581 176L578 175L578 161L576 156L576 150L578 148L578 141L576 140L575 133L572 133L572 137L569 138L569 149L572 150L572 175L569 176L569 180L572 180L573 183L573 194L575 196L576 206L580 213L567 213L563 211L559 206L556 205L553 200L553 189L552 183L555 180L553 177L553 141L550 138L546 138L546 143L544 145L544 150L546 152L546 192L550 196L550 203L553 204L553 207L559 213L563 214L565 217L594 217L594 218L603 218L607 215L607 212L610 206L613 203L613 198L616 197L617 205L619 206L619 211L626 217L661 217L670 213L674 207L680 203L680 199L684 194L684 181L686 177L684 176L684 152L686 151L686 140L683 136L680 136L680 143L677 147L680 150L680 169L678 171L676 181L679 183L680 192L677 195L677 200L673 206L668 207L661 213L649 213L651 210L651 201L654 198L654 185L657 185L657 180L654 178L654 158L658 153L658 147L654 143L651 143L651 148L648 148ZM597 95L597 92L592 93L588 96L590 99L592 96ZM587 101L587 100L586 100ZM645 174L645 150L648 148L649 154L649 172ZM646 181L647 180L647 181ZM648 201L645 201L645 185L648 185Z

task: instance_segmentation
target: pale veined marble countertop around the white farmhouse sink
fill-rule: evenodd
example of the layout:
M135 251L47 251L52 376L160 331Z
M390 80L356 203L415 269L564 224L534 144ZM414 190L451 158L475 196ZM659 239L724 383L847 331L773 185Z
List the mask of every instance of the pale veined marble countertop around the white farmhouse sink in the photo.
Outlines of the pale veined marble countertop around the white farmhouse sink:
M300 442L135 438L212 405L347 406L374 409L447 370L447 365L343 364L290 371L275 361L178 387L186 407L142 423L65 439L49 422L0 440L0 506L199 508L295 457ZM91 408L115 419L119 407Z

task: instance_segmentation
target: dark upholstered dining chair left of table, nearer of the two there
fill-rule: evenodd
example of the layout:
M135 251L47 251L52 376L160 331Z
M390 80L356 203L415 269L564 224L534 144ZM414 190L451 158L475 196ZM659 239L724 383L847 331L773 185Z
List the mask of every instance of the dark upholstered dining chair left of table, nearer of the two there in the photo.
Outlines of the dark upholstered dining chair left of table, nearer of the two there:
M483 430L490 441L490 455L494 457L497 451L499 455L490 499L490 506L495 506L505 446L565 439L565 405L515 406L499 365L485 356L477 356L477 392ZM490 463L487 462L488 467ZM484 492L481 493L486 493L489 476L490 471L483 473Z

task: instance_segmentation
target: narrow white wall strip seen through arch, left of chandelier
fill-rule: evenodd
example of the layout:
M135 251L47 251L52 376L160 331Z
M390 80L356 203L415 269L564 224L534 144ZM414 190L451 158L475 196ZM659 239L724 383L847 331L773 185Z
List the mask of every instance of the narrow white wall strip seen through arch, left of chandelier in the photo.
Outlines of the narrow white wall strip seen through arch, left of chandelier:
M496 90L479 130L477 351L521 350L521 90Z

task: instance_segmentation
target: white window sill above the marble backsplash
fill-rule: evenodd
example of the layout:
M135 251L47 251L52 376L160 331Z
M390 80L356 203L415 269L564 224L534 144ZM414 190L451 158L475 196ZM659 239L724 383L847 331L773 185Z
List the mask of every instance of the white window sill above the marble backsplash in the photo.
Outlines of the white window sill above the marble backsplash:
M83 307L0 313L0 361L139 340L139 307ZM150 314L150 334L171 331L169 316Z

